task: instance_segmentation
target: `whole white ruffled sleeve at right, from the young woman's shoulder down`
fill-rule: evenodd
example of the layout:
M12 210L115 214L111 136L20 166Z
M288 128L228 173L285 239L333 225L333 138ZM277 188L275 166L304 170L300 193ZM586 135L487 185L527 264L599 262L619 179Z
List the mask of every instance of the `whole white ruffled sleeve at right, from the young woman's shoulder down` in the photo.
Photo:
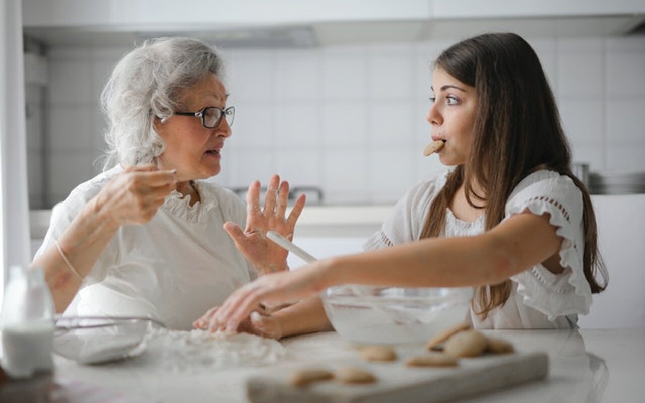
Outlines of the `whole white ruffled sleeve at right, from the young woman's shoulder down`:
M511 277L524 304L555 320L561 315L585 315L591 305L591 289L582 271L584 231L582 193L566 175L538 171L520 182L506 204L505 219L525 211L550 215L550 223L562 237L560 264L554 274L537 264Z

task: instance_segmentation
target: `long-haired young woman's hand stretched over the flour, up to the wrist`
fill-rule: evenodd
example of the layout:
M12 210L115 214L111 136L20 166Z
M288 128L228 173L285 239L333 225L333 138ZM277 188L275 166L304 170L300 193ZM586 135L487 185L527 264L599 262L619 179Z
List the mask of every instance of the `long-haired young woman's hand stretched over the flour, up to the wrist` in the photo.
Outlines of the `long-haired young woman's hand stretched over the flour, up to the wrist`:
M263 275L235 290L222 306L208 311L201 319L208 322L212 331L225 329L234 333L253 311L261 309L261 303L275 305L303 299L332 285L326 267L323 260L298 270Z

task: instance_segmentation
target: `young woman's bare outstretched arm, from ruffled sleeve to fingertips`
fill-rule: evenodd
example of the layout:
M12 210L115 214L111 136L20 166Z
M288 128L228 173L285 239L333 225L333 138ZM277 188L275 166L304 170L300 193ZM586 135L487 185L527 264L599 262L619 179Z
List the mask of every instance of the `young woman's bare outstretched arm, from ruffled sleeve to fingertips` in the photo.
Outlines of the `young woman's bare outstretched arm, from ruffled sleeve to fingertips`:
M260 302L286 302L337 284L456 287L497 284L548 259L562 238L549 215L524 212L475 237L431 238L273 273L235 291L210 318L235 331Z

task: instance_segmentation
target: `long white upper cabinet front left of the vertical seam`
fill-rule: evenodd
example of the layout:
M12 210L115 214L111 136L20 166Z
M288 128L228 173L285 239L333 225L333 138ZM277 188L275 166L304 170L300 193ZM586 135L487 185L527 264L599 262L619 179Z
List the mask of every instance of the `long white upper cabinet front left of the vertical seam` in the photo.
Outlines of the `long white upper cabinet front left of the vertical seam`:
M426 19L428 0L24 0L26 27L88 27L125 30L213 28L222 25L321 23Z

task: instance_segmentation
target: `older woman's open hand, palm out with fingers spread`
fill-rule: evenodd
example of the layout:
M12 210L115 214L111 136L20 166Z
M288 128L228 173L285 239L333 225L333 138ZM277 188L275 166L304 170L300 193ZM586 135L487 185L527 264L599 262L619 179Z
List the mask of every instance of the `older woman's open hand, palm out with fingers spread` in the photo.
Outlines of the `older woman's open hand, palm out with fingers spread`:
M293 228L303 211L305 197L298 197L289 217L285 218L288 197L288 182L280 183L280 177L273 175L264 197L264 208L260 208L260 182L255 181L246 193L246 230L242 231L234 222L224 224L224 230L233 239L237 249L260 275L288 269L288 251L266 238L266 231L275 231L286 239L293 239Z

